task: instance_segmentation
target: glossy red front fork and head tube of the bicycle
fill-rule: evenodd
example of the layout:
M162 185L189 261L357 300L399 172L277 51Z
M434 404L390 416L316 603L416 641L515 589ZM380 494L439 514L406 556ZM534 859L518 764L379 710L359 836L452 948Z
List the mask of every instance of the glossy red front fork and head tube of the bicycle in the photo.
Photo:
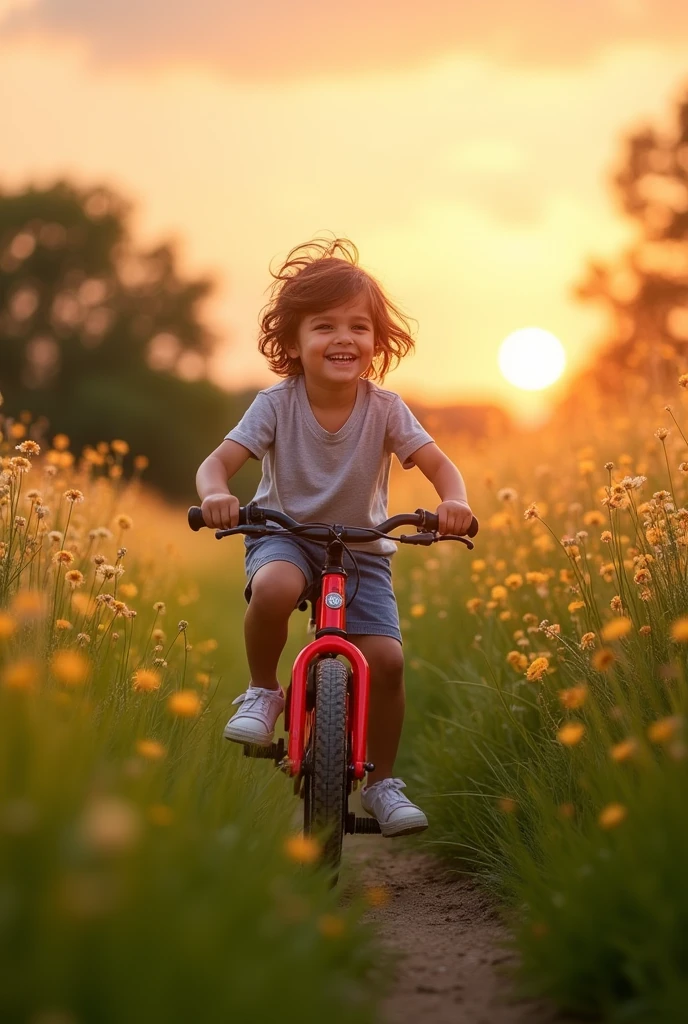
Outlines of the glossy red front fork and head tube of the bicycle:
M368 703L371 672L368 662L350 640L346 639L346 577L341 571L322 572L320 595L315 604L316 639L298 654L292 672L289 694L288 760L285 769L291 775L301 771L306 739L306 687L308 670L312 663L328 655L342 654L351 666L352 687L347 709L346 734L351 737L351 765L353 778L362 779L367 771L365 748L368 743ZM338 631L317 636L321 630Z

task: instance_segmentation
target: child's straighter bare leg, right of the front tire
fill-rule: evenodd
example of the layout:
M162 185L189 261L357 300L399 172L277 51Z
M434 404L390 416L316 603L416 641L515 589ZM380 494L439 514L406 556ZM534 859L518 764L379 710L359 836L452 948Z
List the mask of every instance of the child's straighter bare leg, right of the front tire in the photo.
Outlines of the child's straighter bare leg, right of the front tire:
M368 717L368 757L375 765L368 785L393 775L403 725L403 653L394 637L349 636L371 669L371 701Z

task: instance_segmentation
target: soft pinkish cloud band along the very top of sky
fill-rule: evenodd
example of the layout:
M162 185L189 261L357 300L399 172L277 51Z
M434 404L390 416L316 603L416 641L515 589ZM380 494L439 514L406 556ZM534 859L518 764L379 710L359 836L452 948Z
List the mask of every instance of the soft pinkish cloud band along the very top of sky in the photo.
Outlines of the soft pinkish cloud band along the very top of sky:
M4 15L4 16L3 16ZM0 39L76 39L98 63L205 66L238 79L397 71L458 53L580 63L685 45L685 0L0 0Z

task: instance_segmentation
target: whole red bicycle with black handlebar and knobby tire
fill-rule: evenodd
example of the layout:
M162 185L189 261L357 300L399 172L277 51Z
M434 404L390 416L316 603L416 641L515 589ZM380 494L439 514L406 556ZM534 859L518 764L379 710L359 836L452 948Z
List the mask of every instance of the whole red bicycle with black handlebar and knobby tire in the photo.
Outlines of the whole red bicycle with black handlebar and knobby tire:
M268 521L277 526L268 525ZM188 524L193 530L205 527L203 512L198 506L189 508ZM460 541L472 550L473 544L468 538L475 537L478 531L478 521L474 517L466 537L440 535L437 515L425 509L394 515L379 526L362 528L299 523L284 512L260 508L253 503L240 508L238 526L215 530L217 540L233 534L266 537L287 530L327 544L319 596L308 598L298 606L305 611L310 604L315 636L294 662L285 706L287 749L281 738L267 746L245 743L244 754L271 759L277 768L292 776L294 793L304 802L304 835L317 836L321 840L321 860L333 870L335 881L344 836L380 831L375 818L357 817L348 809L352 791L367 772L375 770L375 765L367 760L370 670L360 650L347 639L345 588L348 573L343 566L343 555L344 550L349 550L347 541L377 541L403 525L415 525L417 532L389 539L397 544L425 546L438 541ZM357 573L355 559L352 560ZM357 586L358 581L356 589ZM353 596L355 590L350 600ZM337 660L339 656L346 658L348 668Z

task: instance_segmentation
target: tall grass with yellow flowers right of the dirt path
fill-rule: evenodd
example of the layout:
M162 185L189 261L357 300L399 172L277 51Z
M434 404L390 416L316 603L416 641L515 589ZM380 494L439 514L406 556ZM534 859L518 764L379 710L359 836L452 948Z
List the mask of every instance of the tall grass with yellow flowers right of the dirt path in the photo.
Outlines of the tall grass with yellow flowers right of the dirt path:
M507 897L530 989L656 1024L688 999L688 464L670 425L641 411L588 421L585 445L578 427L577 445L494 446L486 480L469 462L475 552L415 554L401 588L433 849Z

